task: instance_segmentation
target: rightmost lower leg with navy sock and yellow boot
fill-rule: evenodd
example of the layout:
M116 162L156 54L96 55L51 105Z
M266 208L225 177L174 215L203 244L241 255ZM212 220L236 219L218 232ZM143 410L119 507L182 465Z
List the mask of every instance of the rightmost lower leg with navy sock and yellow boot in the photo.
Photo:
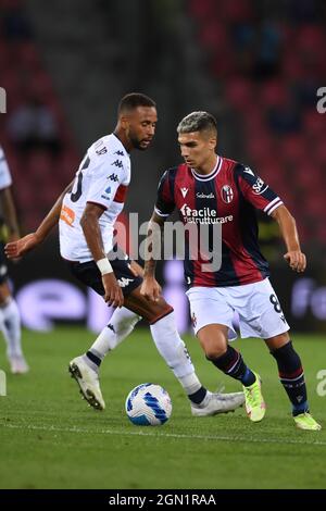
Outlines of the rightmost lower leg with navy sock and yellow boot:
M304 373L300 357L288 337L285 339L281 339L281 336L278 337L279 344L284 340L286 341L286 344L279 348L275 349L275 345L278 344L276 337L266 340L266 344L271 349L271 354L277 362L280 383L292 404L294 424L300 429L319 431L322 429L321 424L310 414Z

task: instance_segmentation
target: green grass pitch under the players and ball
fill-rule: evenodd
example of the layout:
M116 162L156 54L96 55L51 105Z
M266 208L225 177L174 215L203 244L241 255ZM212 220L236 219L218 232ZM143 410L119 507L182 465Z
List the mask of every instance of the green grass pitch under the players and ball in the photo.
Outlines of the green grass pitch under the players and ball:
M302 432L293 425L275 362L258 339L235 346L263 378L267 412L259 424L250 423L243 409L192 417L147 329L137 329L106 357L101 369L106 410L92 410L68 377L67 363L93 337L80 327L24 332L32 371L8 374L8 396L0 397L1 488L326 488L326 397L316 391L317 372L326 370L325 338L293 336L311 408L323 425L322 432ZM185 340L204 385L240 389L205 361L193 337ZM4 344L0 365L8 371ZM145 382L171 395L173 414L163 426L134 426L125 414L127 394Z

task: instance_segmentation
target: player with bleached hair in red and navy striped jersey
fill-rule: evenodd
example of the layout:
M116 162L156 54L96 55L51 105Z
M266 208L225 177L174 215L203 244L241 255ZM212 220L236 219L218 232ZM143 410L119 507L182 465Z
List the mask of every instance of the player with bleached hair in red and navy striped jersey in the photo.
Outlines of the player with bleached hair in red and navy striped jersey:
M300 273L305 270L305 256L300 249L294 219L277 194L250 167L216 154L217 128L213 115L192 112L183 119L177 132L185 163L170 169L161 178L149 236L155 226L162 228L177 209L185 225L208 226L208 248L212 253L214 228L222 226L218 270L206 264L209 267L203 271L205 254L198 250L197 260L191 258L193 246L189 245L189 235L185 235L187 296L193 329L203 351L216 367L242 383L247 413L251 421L261 421L265 402L260 375L228 344L236 338L233 316L238 312L241 337L264 339L276 360L296 425L321 429L310 414L301 360L269 283L268 263L260 252L255 210L264 211L279 224L287 249L285 260ZM152 257L146 262L141 288L149 300L158 299L161 292L154 270Z

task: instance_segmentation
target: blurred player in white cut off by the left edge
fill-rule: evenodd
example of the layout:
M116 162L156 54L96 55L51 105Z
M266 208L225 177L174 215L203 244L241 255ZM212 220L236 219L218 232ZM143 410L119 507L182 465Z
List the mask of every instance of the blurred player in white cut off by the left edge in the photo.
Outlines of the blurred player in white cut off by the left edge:
M4 152L0 147L0 208L3 219L0 240L0 329L7 344L7 357L13 374L27 373L28 365L22 351L21 315L8 284L4 240L20 237L15 205L11 192L12 179Z

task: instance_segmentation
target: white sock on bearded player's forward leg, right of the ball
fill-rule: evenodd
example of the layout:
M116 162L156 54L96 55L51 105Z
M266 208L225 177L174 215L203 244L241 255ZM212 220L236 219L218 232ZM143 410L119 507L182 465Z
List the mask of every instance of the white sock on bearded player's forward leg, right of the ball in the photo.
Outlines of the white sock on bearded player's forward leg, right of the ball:
M197 392L202 385L195 373L186 345L176 329L174 312L151 325L151 333L158 350L186 394L189 396Z

